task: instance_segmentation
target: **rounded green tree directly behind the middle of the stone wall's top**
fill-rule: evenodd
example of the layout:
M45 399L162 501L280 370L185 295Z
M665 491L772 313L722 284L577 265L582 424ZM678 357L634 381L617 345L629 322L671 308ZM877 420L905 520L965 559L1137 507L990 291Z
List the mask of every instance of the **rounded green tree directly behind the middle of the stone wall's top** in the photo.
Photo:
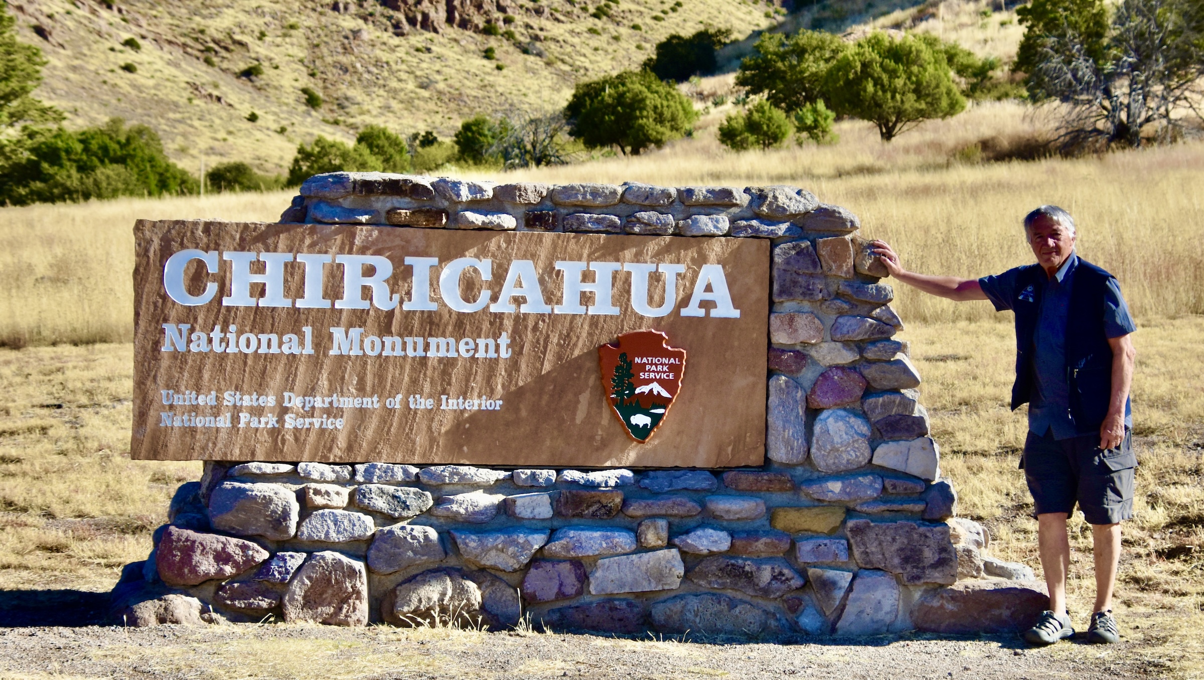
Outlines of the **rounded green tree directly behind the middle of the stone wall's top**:
M569 135L588 148L636 154L685 135L698 114L651 71L624 71L580 83L565 107Z

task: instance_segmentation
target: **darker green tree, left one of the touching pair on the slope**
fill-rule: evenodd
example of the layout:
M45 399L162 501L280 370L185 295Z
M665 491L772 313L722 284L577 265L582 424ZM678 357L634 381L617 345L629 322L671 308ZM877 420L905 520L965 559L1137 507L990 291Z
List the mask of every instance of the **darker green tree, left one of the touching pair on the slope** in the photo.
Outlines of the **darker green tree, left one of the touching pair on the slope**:
M828 67L848 52L849 46L830 32L802 30L789 39L775 32L763 34L755 49L740 63L736 84L793 113L826 97Z

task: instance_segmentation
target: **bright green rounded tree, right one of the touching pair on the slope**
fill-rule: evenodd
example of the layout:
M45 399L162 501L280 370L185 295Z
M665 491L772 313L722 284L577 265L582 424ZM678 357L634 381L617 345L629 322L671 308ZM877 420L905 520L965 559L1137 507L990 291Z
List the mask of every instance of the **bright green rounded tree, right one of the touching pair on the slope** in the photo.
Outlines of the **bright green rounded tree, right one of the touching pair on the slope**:
M861 39L832 65L825 90L837 113L872 122L884 142L966 108L944 51L914 36Z

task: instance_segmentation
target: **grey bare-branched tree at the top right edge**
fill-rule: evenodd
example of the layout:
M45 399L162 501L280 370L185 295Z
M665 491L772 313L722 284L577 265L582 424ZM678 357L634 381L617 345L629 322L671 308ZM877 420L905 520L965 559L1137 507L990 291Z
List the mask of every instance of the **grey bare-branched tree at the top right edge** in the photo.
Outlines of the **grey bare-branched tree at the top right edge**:
M1063 147L1170 141L1200 119L1204 2L1123 0L1102 36L1057 20L1031 22L1026 42L1034 58L1029 95L1062 105ZM1044 35L1032 35L1041 28Z

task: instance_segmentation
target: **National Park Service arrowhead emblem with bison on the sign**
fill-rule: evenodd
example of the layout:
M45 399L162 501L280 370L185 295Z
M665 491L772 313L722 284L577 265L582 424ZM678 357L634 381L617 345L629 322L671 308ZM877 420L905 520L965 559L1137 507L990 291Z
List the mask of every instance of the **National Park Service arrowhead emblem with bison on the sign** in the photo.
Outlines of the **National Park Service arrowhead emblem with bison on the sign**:
M647 442L665 420L685 373L685 350L669 347L660 331L619 336L618 344L598 348L602 389L615 418L637 442Z

